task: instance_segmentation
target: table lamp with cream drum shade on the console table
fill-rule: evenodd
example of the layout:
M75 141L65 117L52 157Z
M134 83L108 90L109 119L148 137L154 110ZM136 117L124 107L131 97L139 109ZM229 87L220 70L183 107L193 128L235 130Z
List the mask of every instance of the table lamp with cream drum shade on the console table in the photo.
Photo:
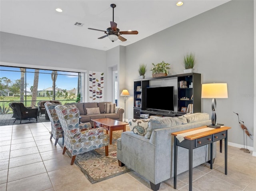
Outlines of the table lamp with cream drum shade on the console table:
M202 84L201 98L212 98L212 124L208 127L220 128L222 124L216 123L216 98L228 98L227 83Z

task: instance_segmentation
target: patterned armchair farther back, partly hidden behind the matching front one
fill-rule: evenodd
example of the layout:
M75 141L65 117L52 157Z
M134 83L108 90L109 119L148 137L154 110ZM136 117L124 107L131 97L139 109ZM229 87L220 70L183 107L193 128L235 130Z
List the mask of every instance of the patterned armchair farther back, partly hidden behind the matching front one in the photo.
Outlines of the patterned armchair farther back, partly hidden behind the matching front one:
M57 144L59 138L63 138L62 144L64 144L63 130L62 130L60 120L59 120L58 115L55 110L55 106L57 106L57 105L59 105L59 104L52 104L50 102L44 103L46 112L49 116L49 119L50 119L51 125L52 125L52 132L51 132L50 140L52 140L52 137L55 138L54 145Z

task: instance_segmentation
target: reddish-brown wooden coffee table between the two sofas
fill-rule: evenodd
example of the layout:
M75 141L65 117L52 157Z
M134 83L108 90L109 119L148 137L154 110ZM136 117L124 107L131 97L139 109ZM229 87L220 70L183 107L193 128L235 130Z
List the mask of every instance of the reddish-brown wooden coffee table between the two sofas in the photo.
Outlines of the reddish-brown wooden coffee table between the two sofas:
M102 118L102 119L91 119L94 122L94 128L102 127L109 131L109 144L112 144L112 132L117 130L123 130L125 132L127 122L121 122L114 119Z

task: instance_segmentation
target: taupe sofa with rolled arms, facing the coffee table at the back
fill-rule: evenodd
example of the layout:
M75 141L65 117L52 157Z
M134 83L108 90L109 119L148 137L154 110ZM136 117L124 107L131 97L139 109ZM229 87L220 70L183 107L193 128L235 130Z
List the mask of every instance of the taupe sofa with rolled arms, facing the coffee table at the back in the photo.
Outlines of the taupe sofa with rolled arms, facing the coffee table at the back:
M112 102L81 102L81 103L69 103L68 105L72 105L72 104L75 104L79 110L80 117L82 117L80 119L80 122L81 123L90 122L92 127L94 124L93 124L93 121L91 121L91 119L110 118L118 121L123 120L124 109L121 107L115 107L114 111L111 113L105 112L105 104L112 104ZM100 113L88 114L87 108L91 108L91 110L94 110L94 108L95 110L97 110L96 108L98 108Z

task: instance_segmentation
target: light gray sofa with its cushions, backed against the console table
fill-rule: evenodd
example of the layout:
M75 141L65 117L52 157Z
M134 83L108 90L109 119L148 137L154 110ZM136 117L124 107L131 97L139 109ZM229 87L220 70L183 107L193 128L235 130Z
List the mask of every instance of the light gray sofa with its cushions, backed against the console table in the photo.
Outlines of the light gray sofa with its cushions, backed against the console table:
M132 127L134 123L138 126ZM207 124L211 124L211 121L206 113L186 114L174 118L129 119L132 131L123 132L117 140L118 163L130 167L148 179L151 189L158 190L162 181L174 175L174 137L171 133ZM194 149L193 167L209 161L209 151L208 145ZM213 158L215 157L216 142L213 149ZM187 170L188 150L178 147L177 174Z

